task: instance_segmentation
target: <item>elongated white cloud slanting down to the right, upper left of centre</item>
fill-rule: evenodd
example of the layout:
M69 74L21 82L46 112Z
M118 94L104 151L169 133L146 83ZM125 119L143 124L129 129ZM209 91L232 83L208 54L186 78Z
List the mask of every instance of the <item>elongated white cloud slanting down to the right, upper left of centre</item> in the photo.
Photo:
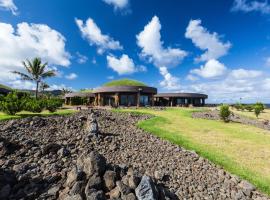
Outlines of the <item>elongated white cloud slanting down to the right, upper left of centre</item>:
M89 44L97 46L99 54L104 53L106 50L123 49L119 41L115 41L109 35L103 34L92 18L88 18L85 23L80 19L75 19L75 22L82 36L88 40Z

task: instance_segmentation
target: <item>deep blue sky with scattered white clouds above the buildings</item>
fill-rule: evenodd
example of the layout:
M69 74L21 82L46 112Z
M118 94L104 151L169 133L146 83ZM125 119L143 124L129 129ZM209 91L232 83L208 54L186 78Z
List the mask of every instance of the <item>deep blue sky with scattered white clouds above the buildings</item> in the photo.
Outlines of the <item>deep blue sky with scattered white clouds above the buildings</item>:
M0 0L0 83L40 57L50 89L135 79L208 103L270 102L266 0Z

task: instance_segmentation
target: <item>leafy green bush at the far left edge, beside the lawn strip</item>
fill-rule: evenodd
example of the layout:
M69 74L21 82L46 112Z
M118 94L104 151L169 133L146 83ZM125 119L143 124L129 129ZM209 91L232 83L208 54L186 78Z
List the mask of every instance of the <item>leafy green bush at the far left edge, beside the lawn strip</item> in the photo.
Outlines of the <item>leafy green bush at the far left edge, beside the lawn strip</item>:
M0 110L8 115L15 115L23 110L25 105L24 99L20 99L17 92L11 92L0 101Z

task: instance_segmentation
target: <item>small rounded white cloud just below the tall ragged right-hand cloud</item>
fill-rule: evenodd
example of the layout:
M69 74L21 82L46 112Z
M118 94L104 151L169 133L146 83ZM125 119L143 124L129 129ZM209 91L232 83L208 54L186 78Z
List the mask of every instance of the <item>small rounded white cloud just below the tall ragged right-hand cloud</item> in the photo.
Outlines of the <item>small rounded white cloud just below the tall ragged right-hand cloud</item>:
M218 60L209 60L202 65L199 69L193 69L190 71L192 74L196 74L203 78L216 78L225 74L227 68L224 64Z

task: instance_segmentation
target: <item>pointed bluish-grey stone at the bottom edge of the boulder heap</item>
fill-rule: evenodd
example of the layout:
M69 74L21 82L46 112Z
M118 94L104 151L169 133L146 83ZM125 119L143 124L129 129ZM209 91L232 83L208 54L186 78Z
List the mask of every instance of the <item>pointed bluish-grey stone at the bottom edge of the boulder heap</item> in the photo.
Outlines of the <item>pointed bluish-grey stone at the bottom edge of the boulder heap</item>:
M143 176L140 184L135 189L138 200L157 200L157 191L152 179L149 176Z

